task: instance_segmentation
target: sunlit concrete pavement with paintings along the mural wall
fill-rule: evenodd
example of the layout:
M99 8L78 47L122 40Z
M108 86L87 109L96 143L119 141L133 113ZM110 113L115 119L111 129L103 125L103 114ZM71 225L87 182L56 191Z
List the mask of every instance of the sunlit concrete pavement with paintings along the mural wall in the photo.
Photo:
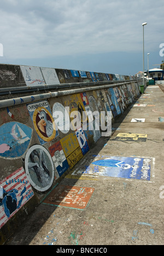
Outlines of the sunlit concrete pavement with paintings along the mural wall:
M160 87L147 87L6 245L163 245Z

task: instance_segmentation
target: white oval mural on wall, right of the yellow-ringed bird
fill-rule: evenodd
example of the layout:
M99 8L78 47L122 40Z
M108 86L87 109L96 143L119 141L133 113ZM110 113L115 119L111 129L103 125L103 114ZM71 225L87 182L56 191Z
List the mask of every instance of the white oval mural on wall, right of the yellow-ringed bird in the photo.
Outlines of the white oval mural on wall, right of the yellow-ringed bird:
M57 128L62 133L68 133L70 129L70 120L67 109L60 102L56 102L52 107L52 114Z

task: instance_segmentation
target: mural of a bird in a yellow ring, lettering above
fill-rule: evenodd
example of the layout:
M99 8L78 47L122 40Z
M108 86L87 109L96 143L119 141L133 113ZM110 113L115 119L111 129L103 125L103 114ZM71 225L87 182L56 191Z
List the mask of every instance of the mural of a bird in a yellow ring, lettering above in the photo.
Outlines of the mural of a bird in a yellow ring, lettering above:
M57 127L52 117L48 101L27 104L40 144L51 141L58 136Z

